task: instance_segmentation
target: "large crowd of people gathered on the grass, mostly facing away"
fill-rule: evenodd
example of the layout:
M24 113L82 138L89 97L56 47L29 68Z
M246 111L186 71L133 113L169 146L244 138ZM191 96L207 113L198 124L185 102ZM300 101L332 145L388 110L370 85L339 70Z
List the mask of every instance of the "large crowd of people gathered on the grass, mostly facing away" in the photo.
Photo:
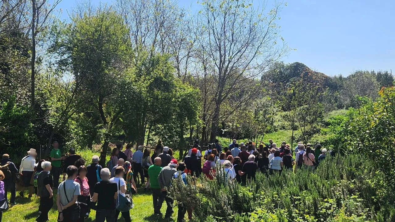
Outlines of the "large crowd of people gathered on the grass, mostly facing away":
M144 187L144 191L152 192L153 213L162 216L162 204L166 201L164 217L171 218L174 201L167 194L167 188L174 178L181 177L186 184L186 177L199 178L204 175L213 179L220 173L216 171L221 170L227 181L246 183L255 179L258 171L267 176L297 169L314 171L328 152L320 144L313 148L310 144L299 142L292 149L286 142L282 142L279 147L271 140L266 144L260 142L257 148L252 142L238 145L234 139L222 149L222 145L216 140L203 152L196 140L184 157L184 162L178 162L173 151L163 146L161 141L154 147L152 156L150 149L143 151L144 147L138 146L134 151L133 146L128 144L125 151L122 151L122 146L114 148L106 167L102 168L96 155L92 156L92 162L88 166L85 166L85 160L74 149L68 151L68 156L62 155L59 144L55 141L50 152L51 161L42 159L36 162L36 150L30 149L17 169L8 154L2 155L0 205L1 201L6 201L10 206L16 204L18 186L21 197L24 196L24 190L28 190L28 198L33 194L40 197L40 216L36 219L38 222L48 220L48 212L54 204L54 192L58 221L83 222L93 209L96 211L96 222L115 222L119 214L124 221L130 222L129 210L134 206L131 196L137 193L136 181ZM62 182L59 184L62 172ZM11 192L9 201L8 191ZM186 213L188 219L192 220L192 209L179 204L177 221L183 221ZM1 218L0 210L0 222Z

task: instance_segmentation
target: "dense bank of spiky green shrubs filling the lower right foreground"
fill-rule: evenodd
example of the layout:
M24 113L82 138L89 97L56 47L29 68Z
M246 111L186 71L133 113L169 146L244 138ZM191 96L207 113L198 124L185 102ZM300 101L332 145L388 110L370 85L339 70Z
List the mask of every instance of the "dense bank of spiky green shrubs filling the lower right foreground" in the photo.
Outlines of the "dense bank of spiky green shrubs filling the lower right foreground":
M258 173L246 186L217 173L174 180L169 193L196 221L395 221L394 189L374 166L358 155L328 157L314 173Z

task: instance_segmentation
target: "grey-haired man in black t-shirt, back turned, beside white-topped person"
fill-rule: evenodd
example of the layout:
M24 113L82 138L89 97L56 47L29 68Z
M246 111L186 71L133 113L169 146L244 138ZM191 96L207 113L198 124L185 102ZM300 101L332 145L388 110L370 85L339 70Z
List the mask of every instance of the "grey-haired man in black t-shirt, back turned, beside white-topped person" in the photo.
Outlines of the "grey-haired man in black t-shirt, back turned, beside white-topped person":
M115 219L115 200L118 197L118 185L109 181L110 170L103 168L100 171L102 181L97 182L94 187L92 201L97 203L96 222L114 222Z

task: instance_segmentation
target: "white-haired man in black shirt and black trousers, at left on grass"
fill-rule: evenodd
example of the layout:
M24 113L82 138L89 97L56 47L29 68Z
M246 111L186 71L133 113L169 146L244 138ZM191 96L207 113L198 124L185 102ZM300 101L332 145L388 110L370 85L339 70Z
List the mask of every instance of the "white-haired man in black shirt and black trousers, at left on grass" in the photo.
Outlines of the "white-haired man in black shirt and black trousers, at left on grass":
M43 171L38 175L37 178L37 196L40 197L40 211L41 214L36 219L37 222L45 222L48 220L48 212L53 206L53 179L51 177L51 162L44 161L41 163Z

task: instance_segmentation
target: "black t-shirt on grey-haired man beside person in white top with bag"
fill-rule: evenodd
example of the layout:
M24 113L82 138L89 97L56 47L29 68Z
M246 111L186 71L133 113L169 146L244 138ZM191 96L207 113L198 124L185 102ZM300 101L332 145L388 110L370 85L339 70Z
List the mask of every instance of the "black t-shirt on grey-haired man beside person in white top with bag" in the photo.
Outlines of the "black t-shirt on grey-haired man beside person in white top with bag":
M95 184L94 192L98 194L97 209L115 209L114 194L118 192L115 182L100 181Z

